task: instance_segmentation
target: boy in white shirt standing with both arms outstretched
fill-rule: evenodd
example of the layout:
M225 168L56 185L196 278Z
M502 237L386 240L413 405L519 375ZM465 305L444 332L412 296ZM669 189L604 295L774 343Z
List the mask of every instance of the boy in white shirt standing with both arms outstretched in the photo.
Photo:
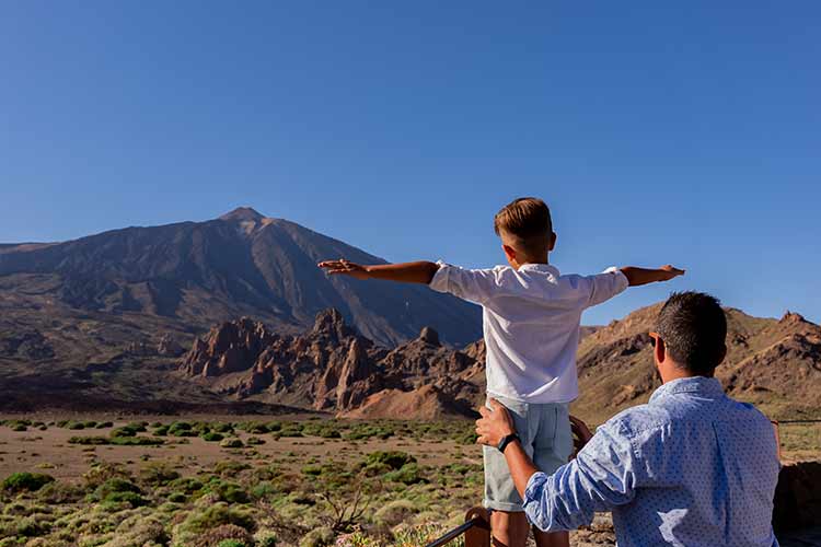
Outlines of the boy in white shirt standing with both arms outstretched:
M595 276L562 276L547 261L556 244L551 212L537 198L520 198L494 219L508 266L470 270L443 263L417 261L360 266L344 259L320 263L328 274L428 284L479 304L487 347L487 395L513 416L518 438L535 465L552 474L573 451L568 404L578 396L576 349L581 313L628 286L667 281L683 275L659 269L611 268ZM523 547L528 521L504 451L484 447L485 500L493 510L494 545ZM534 529L539 547L569 545L566 532Z

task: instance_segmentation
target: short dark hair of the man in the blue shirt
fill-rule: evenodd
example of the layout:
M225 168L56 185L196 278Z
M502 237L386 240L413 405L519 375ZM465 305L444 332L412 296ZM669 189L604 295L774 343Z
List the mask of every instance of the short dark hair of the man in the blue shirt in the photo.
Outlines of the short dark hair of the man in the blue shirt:
M725 356L727 317L721 303L703 292L674 292L656 319L670 357L697 376L712 376Z

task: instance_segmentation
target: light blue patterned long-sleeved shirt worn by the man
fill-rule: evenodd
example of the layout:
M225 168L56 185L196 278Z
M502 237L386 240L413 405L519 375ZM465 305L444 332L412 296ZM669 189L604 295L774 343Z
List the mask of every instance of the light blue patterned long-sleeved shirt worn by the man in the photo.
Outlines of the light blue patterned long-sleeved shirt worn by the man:
M680 379L601 426L554 475L534 474L524 511L544 531L612 511L620 547L772 547L778 470L764 415L718 380Z

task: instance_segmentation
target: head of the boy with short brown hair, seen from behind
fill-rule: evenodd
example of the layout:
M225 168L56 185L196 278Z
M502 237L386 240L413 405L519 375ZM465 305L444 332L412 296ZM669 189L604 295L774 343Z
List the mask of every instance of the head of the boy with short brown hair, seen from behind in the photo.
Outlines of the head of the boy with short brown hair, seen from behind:
M551 210L539 198L519 198L502 207L494 217L494 230L513 268L546 263L547 253L556 245Z

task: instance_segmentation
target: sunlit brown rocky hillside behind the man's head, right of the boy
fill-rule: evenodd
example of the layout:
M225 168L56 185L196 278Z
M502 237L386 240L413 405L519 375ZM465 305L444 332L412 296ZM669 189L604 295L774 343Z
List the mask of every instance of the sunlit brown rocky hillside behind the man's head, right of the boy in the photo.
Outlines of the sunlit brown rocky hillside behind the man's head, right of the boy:
M647 336L660 309L637 310L581 340L575 411L604 420L647 401L660 385ZM728 352L716 376L727 393L771 417L821 416L821 327L793 313L779 321L726 313Z

